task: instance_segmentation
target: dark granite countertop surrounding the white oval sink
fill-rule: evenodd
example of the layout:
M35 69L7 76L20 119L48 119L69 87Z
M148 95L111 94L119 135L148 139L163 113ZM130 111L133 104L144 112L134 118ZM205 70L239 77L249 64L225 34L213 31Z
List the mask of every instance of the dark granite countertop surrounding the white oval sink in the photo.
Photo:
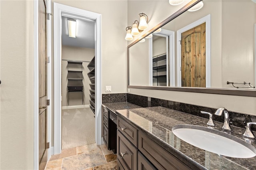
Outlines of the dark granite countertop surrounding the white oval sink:
M208 119L164 107L117 110L116 113L188 166L193 164L198 169L209 170L256 169L256 156L253 158L221 156L188 144L172 133L174 125L189 124L206 127ZM215 121L215 125L215 129L221 130L223 123ZM244 129L234 126L232 128L234 130L232 135L242 138ZM255 143L252 145L256 146Z

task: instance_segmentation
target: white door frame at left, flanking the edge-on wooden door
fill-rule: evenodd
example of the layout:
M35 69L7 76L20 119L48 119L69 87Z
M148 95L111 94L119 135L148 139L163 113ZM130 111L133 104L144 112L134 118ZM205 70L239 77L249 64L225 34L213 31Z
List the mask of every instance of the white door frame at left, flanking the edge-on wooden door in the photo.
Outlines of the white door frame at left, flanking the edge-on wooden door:
M46 2L46 12L51 13L51 0L45 0ZM52 48L52 38L51 38L51 20L46 20L47 22L47 56L51 56ZM51 63L48 63L47 67L47 96L48 99L52 98L52 67ZM34 169L39 168L39 77L38 77L38 1L34 1ZM49 146L51 146L52 141L52 104L50 100L50 105L47 107L47 122L48 122L48 136L47 140ZM51 156L51 150L48 149L48 160Z

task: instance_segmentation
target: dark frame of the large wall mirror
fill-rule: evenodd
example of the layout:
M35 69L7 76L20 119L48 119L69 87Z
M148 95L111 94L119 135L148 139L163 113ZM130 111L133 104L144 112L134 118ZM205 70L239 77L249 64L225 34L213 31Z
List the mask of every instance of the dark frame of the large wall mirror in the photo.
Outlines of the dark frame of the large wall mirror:
M174 20L184 12L186 12L189 8L197 4L202 0L192 0L180 10L166 18L160 24L152 28L146 34L132 42L127 46L127 87L134 88L134 89L154 89L154 90L168 90L168 91L183 91L183 92L193 92L193 93L210 93L210 94L220 94L220 95L236 95L236 96L246 96L246 97L256 97L256 90L252 89L222 89L222 88L198 88L198 87L168 87L168 86L138 86L138 85L129 85L129 48L132 45L138 43L140 40L148 36L149 34L156 31L158 28L164 26L168 22ZM254 56L255 57L255 56Z

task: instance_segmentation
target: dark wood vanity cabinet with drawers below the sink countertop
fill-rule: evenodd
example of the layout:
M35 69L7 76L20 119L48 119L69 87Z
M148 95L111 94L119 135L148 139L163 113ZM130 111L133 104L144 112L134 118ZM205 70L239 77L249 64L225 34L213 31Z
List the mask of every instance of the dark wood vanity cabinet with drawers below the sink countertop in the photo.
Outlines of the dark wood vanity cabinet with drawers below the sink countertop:
M119 169L191 170L172 153L150 139L135 125L117 117L117 158Z

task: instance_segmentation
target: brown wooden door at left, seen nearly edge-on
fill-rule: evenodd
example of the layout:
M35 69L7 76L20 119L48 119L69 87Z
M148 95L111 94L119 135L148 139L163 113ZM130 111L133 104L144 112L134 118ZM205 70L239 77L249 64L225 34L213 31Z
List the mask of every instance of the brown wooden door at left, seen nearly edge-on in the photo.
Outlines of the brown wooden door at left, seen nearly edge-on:
M44 170L47 146L47 37L46 4L38 1L38 67L39 67L39 169Z

